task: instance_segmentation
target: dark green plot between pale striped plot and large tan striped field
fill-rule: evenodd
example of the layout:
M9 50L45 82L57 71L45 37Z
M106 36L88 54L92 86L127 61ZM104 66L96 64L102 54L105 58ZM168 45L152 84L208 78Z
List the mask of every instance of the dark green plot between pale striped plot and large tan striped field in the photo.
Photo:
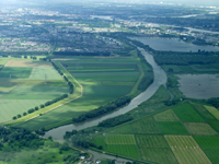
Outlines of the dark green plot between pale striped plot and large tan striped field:
M136 134L139 149L169 148L163 136Z

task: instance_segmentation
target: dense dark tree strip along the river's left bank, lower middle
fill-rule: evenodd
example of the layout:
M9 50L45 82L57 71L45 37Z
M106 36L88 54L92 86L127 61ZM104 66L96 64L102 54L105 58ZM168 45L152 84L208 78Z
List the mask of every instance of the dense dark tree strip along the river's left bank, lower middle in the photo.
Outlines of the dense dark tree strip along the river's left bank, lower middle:
M130 102L130 97L128 97L128 96L120 97L120 98L118 98L114 102L106 104L105 106L101 106L101 107L99 107L94 110L82 114L82 115L78 116L77 118L72 118L72 121L73 122L81 122L81 121L84 121L87 119L107 114L107 113L113 112L116 108L129 103L129 102Z

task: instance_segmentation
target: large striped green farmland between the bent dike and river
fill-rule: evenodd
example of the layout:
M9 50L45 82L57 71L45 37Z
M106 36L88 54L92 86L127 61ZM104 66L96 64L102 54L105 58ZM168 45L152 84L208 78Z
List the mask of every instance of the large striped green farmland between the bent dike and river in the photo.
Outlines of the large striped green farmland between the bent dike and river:
M79 81L83 87L82 96L30 120L28 124L22 124L21 127L33 130L41 126L51 127L62 121L70 122L73 117L84 112L128 94L139 77L137 59L76 57L72 60L55 60L55 62ZM114 69L116 72L120 69L120 72L117 74L112 72ZM130 74L134 77L129 77Z

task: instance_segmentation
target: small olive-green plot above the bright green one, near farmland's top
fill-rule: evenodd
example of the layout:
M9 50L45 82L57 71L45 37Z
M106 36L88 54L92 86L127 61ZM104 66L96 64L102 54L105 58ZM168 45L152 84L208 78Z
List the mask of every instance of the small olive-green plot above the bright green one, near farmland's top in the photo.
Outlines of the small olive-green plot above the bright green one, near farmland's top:
M177 116L172 109L157 114L153 118L155 121L178 121Z

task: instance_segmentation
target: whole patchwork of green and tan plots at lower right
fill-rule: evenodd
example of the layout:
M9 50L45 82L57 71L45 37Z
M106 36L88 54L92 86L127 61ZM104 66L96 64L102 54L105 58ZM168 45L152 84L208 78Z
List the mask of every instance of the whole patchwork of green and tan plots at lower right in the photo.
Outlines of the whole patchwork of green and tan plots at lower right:
M180 103L158 114L105 129L102 143L95 143L106 145L102 150L111 154L147 163L215 164L219 160L218 131L209 125L209 116L199 113L203 109L200 104ZM217 120L210 117L212 119ZM94 134L90 142L96 139Z

